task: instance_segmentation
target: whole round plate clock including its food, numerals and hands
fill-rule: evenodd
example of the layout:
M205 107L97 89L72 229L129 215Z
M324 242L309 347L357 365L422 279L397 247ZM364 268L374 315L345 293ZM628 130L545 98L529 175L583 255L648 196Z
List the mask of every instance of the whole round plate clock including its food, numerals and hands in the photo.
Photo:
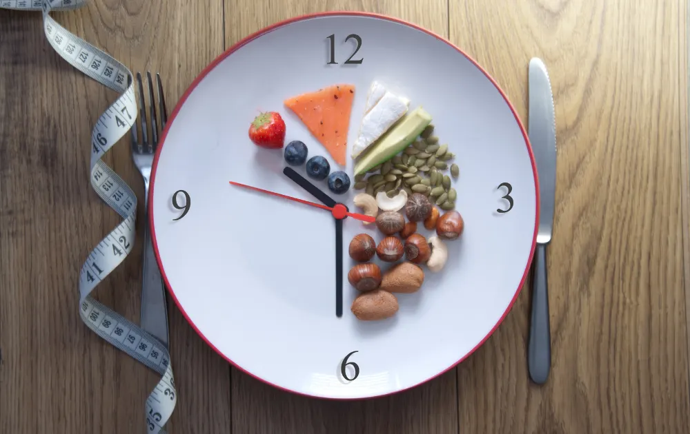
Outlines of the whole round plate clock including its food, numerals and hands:
M279 388L349 399L434 378L491 335L524 283L538 195L486 72L413 25L339 13L279 23L203 72L149 203L168 290L210 346Z

